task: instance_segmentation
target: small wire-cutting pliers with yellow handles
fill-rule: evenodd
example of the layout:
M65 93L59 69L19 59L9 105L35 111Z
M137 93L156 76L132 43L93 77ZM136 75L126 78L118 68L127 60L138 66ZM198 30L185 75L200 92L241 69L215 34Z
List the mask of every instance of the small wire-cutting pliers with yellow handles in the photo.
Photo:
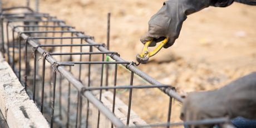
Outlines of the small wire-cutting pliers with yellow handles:
M163 46L168 42L167 38L160 42L160 44L153 51L149 51L149 45L152 41L147 41L142 49L142 53L137 54L136 60L139 63L145 64L149 62L149 57L154 56L157 52L163 48Z

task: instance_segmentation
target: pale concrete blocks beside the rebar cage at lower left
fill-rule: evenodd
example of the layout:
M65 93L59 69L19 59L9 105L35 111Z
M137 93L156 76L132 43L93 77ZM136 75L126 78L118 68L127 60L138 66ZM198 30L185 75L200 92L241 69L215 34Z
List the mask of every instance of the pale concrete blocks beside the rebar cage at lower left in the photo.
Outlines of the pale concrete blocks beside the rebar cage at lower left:
M0 110L9 127L50 127L24 90L12 68L0 56Z

